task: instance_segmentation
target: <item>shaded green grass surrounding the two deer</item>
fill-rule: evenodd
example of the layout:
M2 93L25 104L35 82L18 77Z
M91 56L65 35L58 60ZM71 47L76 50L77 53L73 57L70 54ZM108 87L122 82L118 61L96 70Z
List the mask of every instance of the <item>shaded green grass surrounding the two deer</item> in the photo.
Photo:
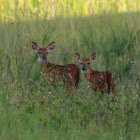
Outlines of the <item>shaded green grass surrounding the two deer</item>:
M0 23L0 139L138 140L139 27L140 13ZM115 98L92 91L83 75L78 95L48 89L32 41L55 41L48 60L56 64L96 52L92 68L112 71Z

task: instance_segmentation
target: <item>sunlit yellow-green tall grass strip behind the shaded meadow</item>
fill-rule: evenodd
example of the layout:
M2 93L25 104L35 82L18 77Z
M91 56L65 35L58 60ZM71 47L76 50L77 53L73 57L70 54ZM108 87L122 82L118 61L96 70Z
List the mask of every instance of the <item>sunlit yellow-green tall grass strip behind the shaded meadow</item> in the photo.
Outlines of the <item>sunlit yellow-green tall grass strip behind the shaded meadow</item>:
M139 0L1 0L1 21L136 12Z

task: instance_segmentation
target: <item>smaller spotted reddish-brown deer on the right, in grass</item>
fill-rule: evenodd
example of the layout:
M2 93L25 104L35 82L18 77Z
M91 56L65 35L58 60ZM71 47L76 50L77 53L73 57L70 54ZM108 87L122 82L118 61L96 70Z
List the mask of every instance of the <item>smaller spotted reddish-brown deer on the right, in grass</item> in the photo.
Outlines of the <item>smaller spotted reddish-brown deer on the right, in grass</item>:
M115 83L112 73L110 71L94 71L90 66L90 63L96 58L96 53L93 53L89 59L84 59L78 53L75 53L75 57L81 63L81 70L84 73L89 86L95 92L99 90L102 95L104 95L105 90L108 88L108 94L112 92L114 97Z

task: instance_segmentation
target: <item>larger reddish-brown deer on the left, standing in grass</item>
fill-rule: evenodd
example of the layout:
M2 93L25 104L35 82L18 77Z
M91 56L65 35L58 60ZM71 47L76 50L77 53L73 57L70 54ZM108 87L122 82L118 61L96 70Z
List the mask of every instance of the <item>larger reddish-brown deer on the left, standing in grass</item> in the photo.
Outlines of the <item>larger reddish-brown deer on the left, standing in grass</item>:
M80 80L80 68L75 64L56 65L47 60L47 55L55 48L55 42L51 42L46 48L39 48L36 42L32 42L32 49L38 53L41 73L47 79L49 86L63 82L64 88L71 92L75 87L78 90Z

